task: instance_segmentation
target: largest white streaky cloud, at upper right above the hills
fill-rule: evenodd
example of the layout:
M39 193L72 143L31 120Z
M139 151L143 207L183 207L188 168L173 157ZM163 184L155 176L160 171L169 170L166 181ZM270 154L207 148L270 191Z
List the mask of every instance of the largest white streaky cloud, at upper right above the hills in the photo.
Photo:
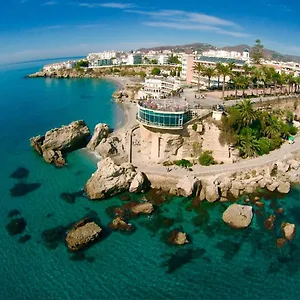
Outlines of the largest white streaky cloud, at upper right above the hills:
M135 13L150 17L144 22L146 26L165 27L180 30L212 31L218 34L234 37L247 37L242 27L233 21L202 13L194 13L183 10L125 10L127 13Z

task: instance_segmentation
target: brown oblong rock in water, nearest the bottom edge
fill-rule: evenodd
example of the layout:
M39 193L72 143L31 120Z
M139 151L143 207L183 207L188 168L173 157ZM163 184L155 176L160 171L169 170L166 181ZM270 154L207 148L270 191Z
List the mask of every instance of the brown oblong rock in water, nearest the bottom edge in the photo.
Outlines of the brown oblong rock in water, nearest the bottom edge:
M78 251L87 245L95 242L102 229L95 222L88 219L79 221L67 232L66 243L70 251Z

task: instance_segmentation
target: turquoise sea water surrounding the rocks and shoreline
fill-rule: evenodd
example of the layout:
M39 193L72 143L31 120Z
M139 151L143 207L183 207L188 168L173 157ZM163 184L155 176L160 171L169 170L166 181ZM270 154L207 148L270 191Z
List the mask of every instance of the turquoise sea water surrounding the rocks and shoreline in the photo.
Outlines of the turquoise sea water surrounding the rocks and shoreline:
M107 208L121 200L64 201L60 194L81 190L95 164L79 151L68 156L68 167L56 169L31 150L28 139L74 119L86 120L90 128L98 122L114 127L120 109L111 101L115 86L107 81L23 78L45 63L0 68L0 299L300 298L300 236L276 247L281 221L300 226L297 187L285 198L263 200L265 209L255 208L246 230L223 224L228 204L194 208L190 199L173 198L151 218L132 220L134 233L107 231L84 254L69 253L65 228L87 214L97 215L105 228L111 221ZM19 167L28 169L28 176L11 178ZM20 183L32 190L23 196L11 193ZM277 232L269 232L263 221L278 207L284 215L278 216ZM5 227L13 209L27 222L21 235L10 236ZM57 235L48 232L46 240L45 230L53 228ZM191 243L166 244L171 228L184 230ZM31 239L20 243L25 234Z

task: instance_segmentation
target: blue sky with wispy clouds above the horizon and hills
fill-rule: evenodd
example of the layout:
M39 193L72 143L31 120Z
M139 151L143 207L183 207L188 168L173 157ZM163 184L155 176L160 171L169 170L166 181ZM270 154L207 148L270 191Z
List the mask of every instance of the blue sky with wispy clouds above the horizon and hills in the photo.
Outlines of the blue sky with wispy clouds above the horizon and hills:
M252 45L257 38L300 55L299 1L204 2L6 0L0 63L193 42Z

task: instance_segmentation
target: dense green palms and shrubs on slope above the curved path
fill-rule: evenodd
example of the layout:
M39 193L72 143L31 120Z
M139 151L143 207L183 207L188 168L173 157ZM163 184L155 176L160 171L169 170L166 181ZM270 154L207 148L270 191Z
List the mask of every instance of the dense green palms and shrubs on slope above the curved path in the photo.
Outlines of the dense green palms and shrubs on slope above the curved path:
M292 122L289 111L254 110L243 100L222 118L220 142L236 146L243 158L267 154L297 133Z

